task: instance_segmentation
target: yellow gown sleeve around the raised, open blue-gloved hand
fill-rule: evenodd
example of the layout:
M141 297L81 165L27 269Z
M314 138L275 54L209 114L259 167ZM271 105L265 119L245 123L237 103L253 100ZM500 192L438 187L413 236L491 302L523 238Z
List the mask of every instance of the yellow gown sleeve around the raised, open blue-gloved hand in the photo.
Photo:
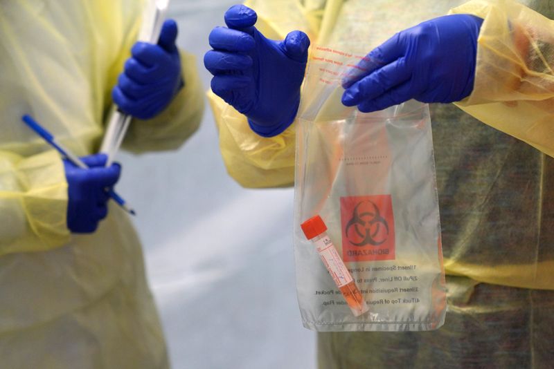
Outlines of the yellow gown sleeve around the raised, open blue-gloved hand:
M269 39L284 39L292 30L306 32L316 39L325 1L251 0L246 6L256 10L256 28ZM243 187L284 187L294 182L295 124L272 138L251 131L246 117L220 97L208 91L220 135L220 150L229 175Z

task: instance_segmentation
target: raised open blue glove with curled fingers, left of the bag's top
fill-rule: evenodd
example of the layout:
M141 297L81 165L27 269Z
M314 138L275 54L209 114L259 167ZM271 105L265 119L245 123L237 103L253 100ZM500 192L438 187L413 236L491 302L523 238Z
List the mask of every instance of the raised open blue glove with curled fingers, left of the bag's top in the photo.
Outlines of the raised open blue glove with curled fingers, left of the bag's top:
M271 137L285 131L298 111L310 39L298 30L283 41L266 39L254 27L257 19L246 6L229 8L229 28L210 33L213 50L204 66L215 76L212 91L246 115L252 131Z

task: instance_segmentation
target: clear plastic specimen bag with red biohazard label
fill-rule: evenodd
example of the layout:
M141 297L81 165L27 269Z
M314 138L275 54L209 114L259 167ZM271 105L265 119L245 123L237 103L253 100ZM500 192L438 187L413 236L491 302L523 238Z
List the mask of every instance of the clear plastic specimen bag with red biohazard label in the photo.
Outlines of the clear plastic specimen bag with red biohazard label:
M305 328L434 330L445 273L427 104L375 113L341 104L363 53L314 46L296 134L294 255ZM359 68L358 68L359 69ZM361 70L360 70L361 71ZM301 223L321 216L369 311L354 316Z

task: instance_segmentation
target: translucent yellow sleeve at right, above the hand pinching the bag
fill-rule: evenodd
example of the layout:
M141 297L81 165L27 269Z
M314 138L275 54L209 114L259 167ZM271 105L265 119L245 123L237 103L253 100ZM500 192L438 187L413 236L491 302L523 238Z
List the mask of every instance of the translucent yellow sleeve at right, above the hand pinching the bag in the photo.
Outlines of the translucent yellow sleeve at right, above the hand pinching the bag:
M473 0L451 13L484 19L474 90L456 105L554 156L554 21L511 0Z

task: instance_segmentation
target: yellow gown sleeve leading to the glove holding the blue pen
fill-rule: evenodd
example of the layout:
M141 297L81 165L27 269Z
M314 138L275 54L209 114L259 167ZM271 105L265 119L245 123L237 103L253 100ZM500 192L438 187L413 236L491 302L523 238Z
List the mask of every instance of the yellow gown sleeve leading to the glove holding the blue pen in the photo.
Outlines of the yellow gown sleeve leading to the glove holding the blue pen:
M60 155L0 151L0 256L69 241L67 183Z

